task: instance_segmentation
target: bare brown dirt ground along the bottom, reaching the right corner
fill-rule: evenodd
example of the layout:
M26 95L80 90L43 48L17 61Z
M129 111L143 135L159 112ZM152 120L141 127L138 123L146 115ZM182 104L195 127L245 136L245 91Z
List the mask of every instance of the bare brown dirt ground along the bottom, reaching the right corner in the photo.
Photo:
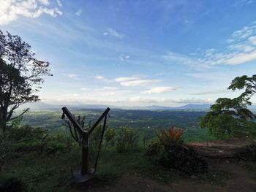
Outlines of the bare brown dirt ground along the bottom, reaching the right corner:
M193 179L181 179L177 183L173 182L169 185L158 183L137 174L124 174L123 177L114 181L110 185L87 185L83 188L71 188L71 192L79 191L113 191L113 192L132 192L132 191L228 191L228 192L255 192L256 177L246 172L241 166L234 163L211 163L215 169L222 169L225 172L230 172L232 178L227 181L225 186L211 185L202 183Z

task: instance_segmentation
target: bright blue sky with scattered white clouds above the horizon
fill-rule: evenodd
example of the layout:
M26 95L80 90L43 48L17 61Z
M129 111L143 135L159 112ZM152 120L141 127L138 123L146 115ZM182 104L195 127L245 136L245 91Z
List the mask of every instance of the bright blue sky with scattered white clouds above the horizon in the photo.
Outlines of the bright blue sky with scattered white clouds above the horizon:
M50 104L212 104L256 72L254 0L0 0L0 30L20 36L53 77ZM256 104L256 99L252 99Z

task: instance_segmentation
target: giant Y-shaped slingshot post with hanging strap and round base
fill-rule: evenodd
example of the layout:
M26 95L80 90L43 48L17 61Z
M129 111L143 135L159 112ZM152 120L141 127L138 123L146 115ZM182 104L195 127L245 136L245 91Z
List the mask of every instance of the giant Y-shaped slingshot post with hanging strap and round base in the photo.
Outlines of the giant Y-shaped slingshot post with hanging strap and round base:
M103 131L105 131L105 124L106 124L107 115L108 115L108 112L110 111L110 108L107 108L105 110L105 112L102 113L102 115L99 117L99 119L94 123L94 125L91 128L89 128L88 131L83 130L83 128L81 128L80 124L75 119L75 116L72 115L71 112L69 112L67 107L62 107L61 110L63 111L64 115L66 115L67 118L70 120L70 122L73 124L74 128L76 128L76 130L78 130L78 133L80 134L80 137L82 138L82 141L81 141L81 144L82 144L82 167L81 167L80 173L75 173L72 175L71 183L83 183L83 182L86 182L87 180L90 180L96 172L97 161L98 161L98 157L99 157L99 150L100 150L100 145L101 145L101 142L100 142L97 159L96 159L95 167L94 167L95 169L89 170L89 137L90 137L91 133L94 131L94 128L96 128L99 125L99 123L102 121L103 118L105 118L104 125L103 125ZM102 133L104 134L104 132L102 132ZM103 137L103 134L102 134L102 137ZM102 138L101 138L101 140L102 140Z

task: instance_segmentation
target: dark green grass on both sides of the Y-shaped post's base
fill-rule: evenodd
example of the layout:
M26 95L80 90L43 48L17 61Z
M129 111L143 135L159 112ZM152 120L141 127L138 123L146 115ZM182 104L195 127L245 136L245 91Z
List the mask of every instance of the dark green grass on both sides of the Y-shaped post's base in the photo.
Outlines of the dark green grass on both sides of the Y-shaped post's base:
M0 178L18 177L27 184L28 191L64 191L69 187L71 169L74 172L80 170L79 146L53 154L18 152L4 165ZM102 150L92 182L109 183L125 172L137 172L163 182L176 177L175 172L149 163L142 151L117 153L116 150Z

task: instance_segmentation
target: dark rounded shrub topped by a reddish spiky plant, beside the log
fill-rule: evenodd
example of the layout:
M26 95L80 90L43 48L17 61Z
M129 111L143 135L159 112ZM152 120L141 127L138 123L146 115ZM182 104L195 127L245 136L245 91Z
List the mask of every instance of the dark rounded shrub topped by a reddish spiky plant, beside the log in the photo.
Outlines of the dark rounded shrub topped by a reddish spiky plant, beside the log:
M146 155L156 164L167 169L176 169L186 174L207 172L208 165L193 149L182 145L183 129L175 130L174 126L157 134L158 142L149 145Z

